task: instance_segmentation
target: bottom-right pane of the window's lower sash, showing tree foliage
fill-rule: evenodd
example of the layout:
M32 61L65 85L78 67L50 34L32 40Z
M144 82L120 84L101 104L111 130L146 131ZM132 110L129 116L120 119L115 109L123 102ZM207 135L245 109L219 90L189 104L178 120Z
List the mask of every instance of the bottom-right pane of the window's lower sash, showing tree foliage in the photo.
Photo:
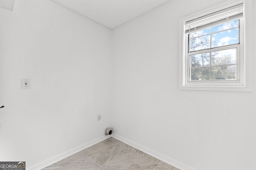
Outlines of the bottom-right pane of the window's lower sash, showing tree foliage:
M212 80L236 80L236 65L212 67Z

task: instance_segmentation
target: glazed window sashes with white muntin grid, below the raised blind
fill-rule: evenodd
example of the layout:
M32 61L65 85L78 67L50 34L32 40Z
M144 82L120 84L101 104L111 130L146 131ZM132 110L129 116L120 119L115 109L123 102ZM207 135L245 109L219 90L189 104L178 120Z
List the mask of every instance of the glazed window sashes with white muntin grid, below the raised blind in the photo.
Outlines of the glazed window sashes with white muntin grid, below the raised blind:
M239 82L240 19L188 33L188 83Z

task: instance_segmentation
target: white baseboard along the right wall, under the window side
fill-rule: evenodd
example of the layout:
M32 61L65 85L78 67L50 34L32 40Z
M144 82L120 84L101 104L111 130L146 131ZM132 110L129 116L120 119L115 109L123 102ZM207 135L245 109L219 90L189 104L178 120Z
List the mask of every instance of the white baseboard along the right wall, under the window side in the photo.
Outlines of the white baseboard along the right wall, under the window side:
M176 168L179 168L180 170L197 170L191 166L188 166L186 164L183 164L182 162L179 162L173 158L170 158L164 154L161 154L155 150L152 150L152 149L149 149L149 148L146 148L138 143L134 143L124 137L121 137L119 135L116 135L116 134L112 134L112 137L118 139L119 141L122 141L123 143L126 143L138 150L141 150L142 152L145 152L147 154L150 154L151 156L154 156L155 158L158 158L159 160L162 160L163 162L166 162L167 164L170 164L172 166L175 166Z

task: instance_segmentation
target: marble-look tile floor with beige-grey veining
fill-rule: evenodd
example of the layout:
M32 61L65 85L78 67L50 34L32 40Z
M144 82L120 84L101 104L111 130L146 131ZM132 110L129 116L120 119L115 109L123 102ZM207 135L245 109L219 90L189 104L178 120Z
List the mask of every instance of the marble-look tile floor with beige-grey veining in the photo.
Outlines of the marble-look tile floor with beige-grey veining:
M179 170L110 137L42 170Z

